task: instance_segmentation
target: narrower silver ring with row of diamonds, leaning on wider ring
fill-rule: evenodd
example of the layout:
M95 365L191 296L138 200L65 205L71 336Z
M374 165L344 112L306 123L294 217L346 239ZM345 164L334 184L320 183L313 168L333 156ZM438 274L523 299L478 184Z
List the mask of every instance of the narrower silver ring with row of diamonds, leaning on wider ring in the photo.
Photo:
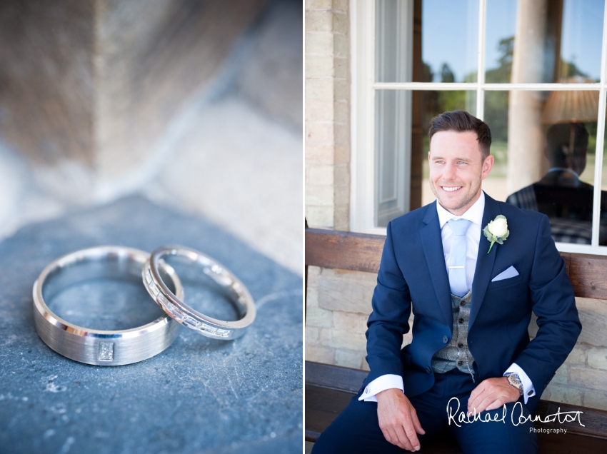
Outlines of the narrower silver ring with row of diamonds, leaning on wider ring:
M190 263L197 263L202 272L209 276L226 296L234 303L239 313L238 321L221 321L205 316L184 304L183 298L175 295L164 283L159 269L164 256L179 256ZM255 319L255 303L244 284L236 278L225 266L204 253L185 246L161 246L152 251L148 263L143 269L144 285L154 301L164 309L169 316L194 331L214 339L230 340L239 338ZM183 276L182 276L183 278Z

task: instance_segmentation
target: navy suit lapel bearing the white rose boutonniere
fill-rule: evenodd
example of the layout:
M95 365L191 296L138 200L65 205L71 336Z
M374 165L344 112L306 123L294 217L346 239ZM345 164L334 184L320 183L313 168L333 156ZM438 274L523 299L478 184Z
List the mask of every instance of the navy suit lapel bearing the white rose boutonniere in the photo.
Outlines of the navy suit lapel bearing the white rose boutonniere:
M476 270L474 271L474 280L472 282L472 307L468 331L472 327L478 311L481 309L481 304L485 299L487 286L491 279L491 273L493 273L493 264L496 261L496 253L499 251L499 245L496 243L491 248L491 252L487 253L490 243L483 234L483 228L493 221L498 214L501 214L499 203L485 194L485 211L483 213L483 223L481 224L481 240L478 243L478 255L476 256Z

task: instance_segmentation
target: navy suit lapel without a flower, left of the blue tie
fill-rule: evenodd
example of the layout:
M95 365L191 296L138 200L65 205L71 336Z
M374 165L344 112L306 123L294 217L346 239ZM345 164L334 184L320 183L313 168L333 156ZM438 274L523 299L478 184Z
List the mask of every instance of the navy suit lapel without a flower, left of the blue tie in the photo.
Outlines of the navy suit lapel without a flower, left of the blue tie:
M428 263L428 270L430 270L432 285L436 292L438 304L441 306L441 312L445 317L447 326L451 326L453 323L453 315L451 313L451 290L449 288L449 278L445 267L441 226L438 222L436 205L431 204L428 206L426 216L423 216L423 223L426 225L419 231L421 246L423 247L423 253L426 256L426 262Z

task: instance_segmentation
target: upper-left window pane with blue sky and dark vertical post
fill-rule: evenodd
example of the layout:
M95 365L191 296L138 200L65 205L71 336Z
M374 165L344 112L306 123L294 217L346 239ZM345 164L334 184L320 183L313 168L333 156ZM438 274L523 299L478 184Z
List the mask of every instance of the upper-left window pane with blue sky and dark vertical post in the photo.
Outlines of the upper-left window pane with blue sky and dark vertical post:
M476 82L477 56L478 0L376 0L376 81Z

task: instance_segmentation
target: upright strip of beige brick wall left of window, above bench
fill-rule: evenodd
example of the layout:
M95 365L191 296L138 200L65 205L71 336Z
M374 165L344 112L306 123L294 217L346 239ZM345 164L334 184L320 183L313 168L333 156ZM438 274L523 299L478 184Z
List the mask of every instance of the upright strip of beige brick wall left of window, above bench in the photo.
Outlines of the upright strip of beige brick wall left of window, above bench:
M306 219L348 230L350 89L347 0L306 0Z

